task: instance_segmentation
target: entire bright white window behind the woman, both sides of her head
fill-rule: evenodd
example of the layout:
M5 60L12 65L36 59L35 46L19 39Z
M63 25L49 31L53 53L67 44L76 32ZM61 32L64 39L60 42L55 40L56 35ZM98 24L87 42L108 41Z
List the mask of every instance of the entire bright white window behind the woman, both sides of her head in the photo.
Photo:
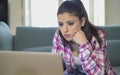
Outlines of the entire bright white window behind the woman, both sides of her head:
M57 9L65 0L25 0L26 25L34 27L56 27ZM105 1L81 0L86 8L89 20L95 25L105 25ZM29 9L29 10L27 10ZM27 12L29 11L29 12Z

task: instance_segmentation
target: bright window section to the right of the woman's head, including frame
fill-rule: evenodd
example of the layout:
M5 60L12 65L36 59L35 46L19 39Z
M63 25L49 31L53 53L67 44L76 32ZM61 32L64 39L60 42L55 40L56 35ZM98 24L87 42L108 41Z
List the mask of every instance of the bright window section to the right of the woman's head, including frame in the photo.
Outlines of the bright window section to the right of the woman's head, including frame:
M105 0L81 0L86 8L89 20L98 26L105 25Z

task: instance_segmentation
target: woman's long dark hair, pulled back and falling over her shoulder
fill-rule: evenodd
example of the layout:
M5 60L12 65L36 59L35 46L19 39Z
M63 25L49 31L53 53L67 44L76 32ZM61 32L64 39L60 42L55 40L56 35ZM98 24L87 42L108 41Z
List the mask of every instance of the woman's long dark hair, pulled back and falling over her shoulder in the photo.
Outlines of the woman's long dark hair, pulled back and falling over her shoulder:
M92 36L95 36L97 38L99 45L101 46L102 40L98 34L98 27L94 26L93 24L90 23L90 21L88 20L88 15L85 10L85 7L80 0L64 1L58 8L57 16L64 12L73 14L74 16L78 17L79 19L82 19L82 17L85 17L86 21L85 21L85 25L81 28L82 31L85 33L89 42L91 42ZM60 35L61 35L63 41L67 42L65 40L65 38L63 37L63 35L61 34L61 32L60 32Z

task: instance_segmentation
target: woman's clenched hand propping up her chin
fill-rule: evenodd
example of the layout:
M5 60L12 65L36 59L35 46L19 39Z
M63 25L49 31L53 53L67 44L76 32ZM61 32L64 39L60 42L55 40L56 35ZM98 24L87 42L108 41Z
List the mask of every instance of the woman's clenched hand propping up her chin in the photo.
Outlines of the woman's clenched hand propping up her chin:
M85 44L88 40L85 36L85 33L82 30L79 30L78 32L75 33L73 37L73 41L78 43L79 45Z

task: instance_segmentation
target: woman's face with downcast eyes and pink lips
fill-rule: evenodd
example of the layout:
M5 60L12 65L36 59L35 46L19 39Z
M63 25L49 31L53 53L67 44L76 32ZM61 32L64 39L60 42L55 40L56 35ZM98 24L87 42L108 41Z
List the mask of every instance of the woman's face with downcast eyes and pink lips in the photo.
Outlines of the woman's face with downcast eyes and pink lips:
M58 15L59 29L63 37L67 41L72 41L76 32L81 29L82 21L70 13L62 13Z

